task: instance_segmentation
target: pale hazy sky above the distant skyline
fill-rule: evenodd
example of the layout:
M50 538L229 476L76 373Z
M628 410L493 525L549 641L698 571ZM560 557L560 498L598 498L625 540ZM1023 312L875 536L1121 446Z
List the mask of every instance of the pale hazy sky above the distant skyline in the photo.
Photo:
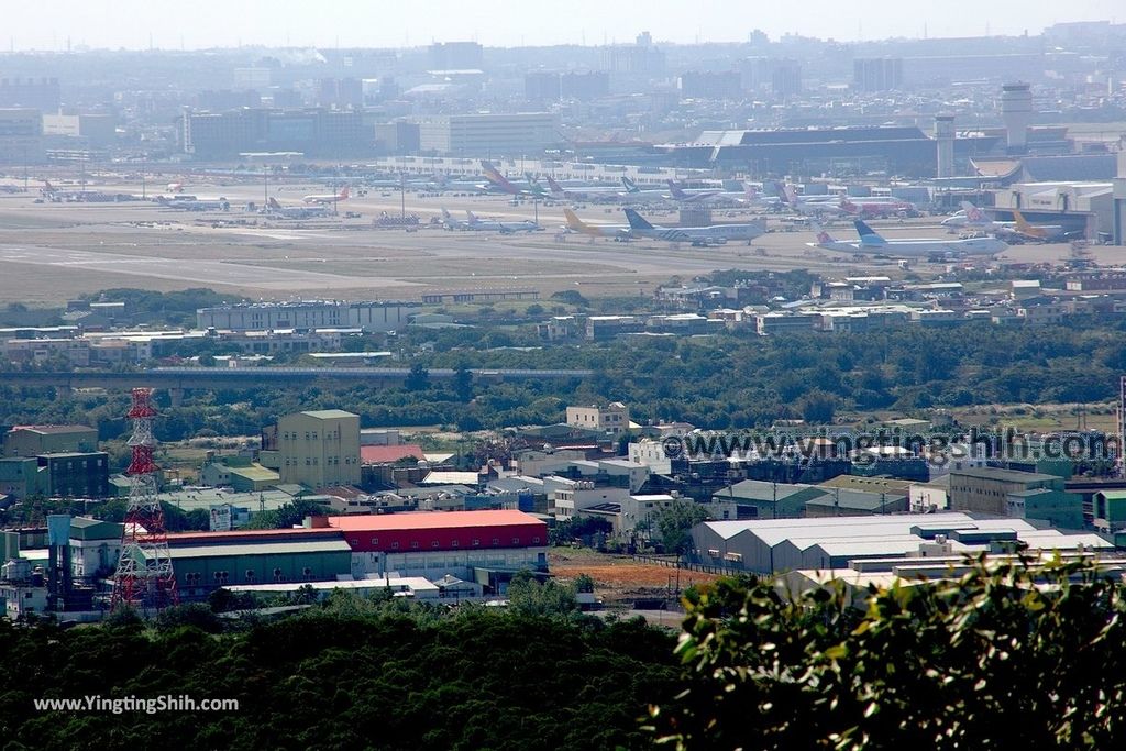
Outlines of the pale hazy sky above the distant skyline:
M1115 17L1121 16L1120 19ZM1126 20L1123 0L0 0L0 48L186 48L265 44L486 46L655 39L741 42L761 28L841 41L1037 34L1073 20Z

